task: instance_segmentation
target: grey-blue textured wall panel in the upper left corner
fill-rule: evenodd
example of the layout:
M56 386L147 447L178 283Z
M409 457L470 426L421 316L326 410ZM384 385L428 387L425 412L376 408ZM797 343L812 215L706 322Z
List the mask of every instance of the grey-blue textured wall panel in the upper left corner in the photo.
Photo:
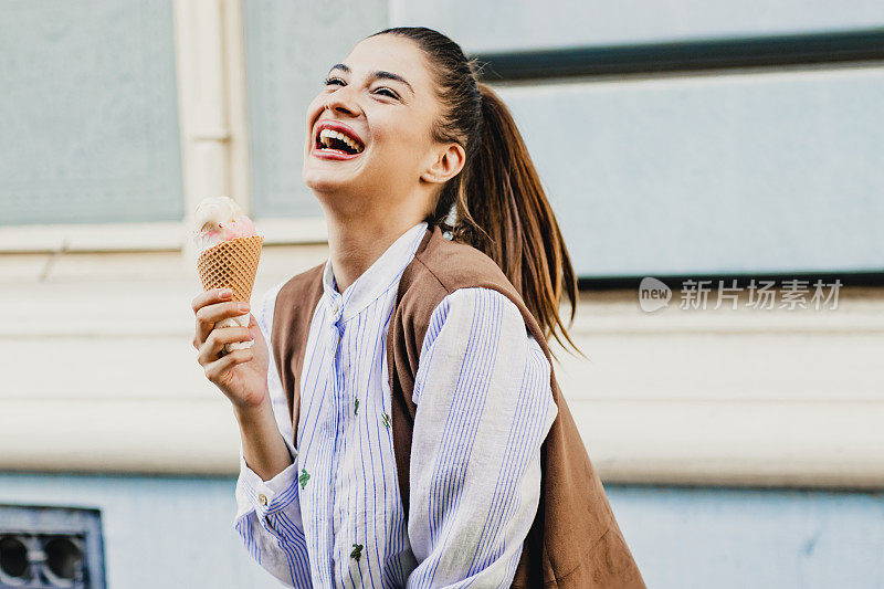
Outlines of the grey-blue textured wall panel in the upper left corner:
M179 220L171 0L0 3L0 225Z

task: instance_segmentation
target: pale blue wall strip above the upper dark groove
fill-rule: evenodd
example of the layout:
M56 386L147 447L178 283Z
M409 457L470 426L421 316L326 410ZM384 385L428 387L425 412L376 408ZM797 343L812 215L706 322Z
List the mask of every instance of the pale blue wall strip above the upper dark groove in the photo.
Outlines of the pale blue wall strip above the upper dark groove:
M393 25L442 31L470 51L696 41L884 25L880 0L391 0Z

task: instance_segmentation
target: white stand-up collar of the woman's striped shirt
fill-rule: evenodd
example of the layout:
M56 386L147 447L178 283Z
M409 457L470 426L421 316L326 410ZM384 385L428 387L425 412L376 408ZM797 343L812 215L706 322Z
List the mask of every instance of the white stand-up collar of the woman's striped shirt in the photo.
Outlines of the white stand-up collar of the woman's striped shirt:
M356 281L343 293L337 291L337 281L332 270L332 259L326 260L323 270L323 291L326 304L332 313L333 320L347 320L368 305L377 301L406 266L414 257L414 252L427 232L427 221L421 221L402 233L378 257L368 270L362 272Z

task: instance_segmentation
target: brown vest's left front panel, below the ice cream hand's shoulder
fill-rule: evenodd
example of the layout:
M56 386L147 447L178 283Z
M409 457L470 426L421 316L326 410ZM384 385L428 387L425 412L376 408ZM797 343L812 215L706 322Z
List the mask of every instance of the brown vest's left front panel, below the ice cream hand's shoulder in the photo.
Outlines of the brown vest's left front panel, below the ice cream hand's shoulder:
M297 421L301 408L301 368L316 305L323 296L325 262L293 276L276 295L271 329L271 346L280 374L288 417L293 423L292 444L297 448Z

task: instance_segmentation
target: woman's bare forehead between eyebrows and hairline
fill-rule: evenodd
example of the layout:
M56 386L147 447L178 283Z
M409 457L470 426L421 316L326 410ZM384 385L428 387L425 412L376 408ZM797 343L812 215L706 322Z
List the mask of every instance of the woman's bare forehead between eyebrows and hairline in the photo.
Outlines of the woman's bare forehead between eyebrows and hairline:
M392 34L381 34L364 39L344 60L351 75L367 76L372 72L385 71L404 77L415 94L429 93L430 73L423 52L417 43Z

